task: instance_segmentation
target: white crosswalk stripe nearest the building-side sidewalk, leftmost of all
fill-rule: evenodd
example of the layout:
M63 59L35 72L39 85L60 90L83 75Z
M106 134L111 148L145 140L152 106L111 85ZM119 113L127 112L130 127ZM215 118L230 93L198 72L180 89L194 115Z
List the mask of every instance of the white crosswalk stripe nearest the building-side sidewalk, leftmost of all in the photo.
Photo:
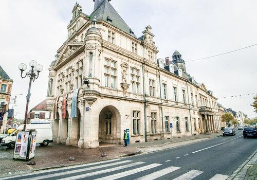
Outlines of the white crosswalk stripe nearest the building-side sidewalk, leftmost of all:
M28 176L28 175L42 174L42 173L48 173L48 172L54 172L54 171L60 171L60 170L70 170L70 169L74 169L74 168L87 167L87 166L91 166L91 165L111 163L111 162L117 161L117 160L121 160L121 159L111 159L111 160L99 161L99 162L96 162L96 163L88 163L88 164L83 164L83 165L68 166L68 167L58 168L58 169L49 169L49 170L38 171L38 172L33 172L33 173L27 173L27 174L15 175L15 176L8 176L8 177L0 178L0 179L4 180L4 179L15 178L15 177L24 177L24 176Z

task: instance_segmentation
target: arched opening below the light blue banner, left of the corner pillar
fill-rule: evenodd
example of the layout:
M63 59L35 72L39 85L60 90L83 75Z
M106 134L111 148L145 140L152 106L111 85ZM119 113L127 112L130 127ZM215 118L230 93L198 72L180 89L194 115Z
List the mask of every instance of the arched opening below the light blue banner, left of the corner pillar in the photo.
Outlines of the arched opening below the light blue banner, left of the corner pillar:
M70 145L78 145L80 139L80 110L77 108L77 117L71 119Z

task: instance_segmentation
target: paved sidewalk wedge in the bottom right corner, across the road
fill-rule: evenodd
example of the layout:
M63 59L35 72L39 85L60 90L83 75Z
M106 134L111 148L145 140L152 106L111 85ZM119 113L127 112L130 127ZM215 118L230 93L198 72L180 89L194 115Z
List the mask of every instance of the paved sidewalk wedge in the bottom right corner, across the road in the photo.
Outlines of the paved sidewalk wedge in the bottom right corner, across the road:
M257 150L255 150L245 161L238 167L227 180L255 180L257 179Z

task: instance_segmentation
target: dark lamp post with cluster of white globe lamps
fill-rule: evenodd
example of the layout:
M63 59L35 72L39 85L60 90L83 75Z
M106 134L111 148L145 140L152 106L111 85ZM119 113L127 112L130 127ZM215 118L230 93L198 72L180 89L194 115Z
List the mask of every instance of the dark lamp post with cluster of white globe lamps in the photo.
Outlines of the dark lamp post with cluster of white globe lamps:
M24 128L23 131L26 130L26 123L27 123L27 112L28 112L28 106L29 106L29 98L30 98L30 88L31 88L31 82L35 79L39 78L39 73L43 70L43 66L38 64L36 61L32 60L29 62L29 65L31 69L29 70L28 73L23 76L23 71L27 69L27 65L24 63L21 63L18 67L21 70L21 77L22 78L29 78L29 89L28 89L28 94L27 94L27 104L26 104L26 110L25 110L25 119L24 119Z

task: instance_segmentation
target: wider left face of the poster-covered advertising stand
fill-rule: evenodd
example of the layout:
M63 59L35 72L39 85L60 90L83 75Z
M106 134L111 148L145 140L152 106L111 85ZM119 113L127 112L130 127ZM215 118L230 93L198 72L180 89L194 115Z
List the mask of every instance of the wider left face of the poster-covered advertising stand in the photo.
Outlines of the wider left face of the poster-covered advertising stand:
M29 132L17 132L13 158L26 159Z

